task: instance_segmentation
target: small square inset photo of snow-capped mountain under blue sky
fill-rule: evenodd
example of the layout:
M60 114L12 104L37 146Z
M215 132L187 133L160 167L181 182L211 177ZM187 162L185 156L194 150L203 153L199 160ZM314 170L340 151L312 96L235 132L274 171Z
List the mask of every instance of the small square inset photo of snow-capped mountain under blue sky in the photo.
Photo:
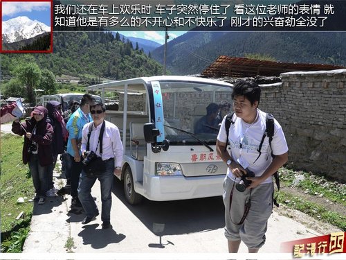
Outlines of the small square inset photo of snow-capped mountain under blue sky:
M1 51L51 51L51 2L2 1Z

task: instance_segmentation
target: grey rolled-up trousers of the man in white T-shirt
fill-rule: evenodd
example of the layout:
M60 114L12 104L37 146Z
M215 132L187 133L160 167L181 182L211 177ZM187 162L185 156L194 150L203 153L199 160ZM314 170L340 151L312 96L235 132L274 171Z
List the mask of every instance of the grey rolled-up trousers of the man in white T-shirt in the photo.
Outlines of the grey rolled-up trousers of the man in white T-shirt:
M224 180L225 236L230 241L242 240L248 248L261 248L266 241L268 218L273 210L273 183L260 184L251 191L251 207L244 223L237 225L244 215L245 203L250 197L250 189L239 192L233 189L230 207L230 191L233 180Z

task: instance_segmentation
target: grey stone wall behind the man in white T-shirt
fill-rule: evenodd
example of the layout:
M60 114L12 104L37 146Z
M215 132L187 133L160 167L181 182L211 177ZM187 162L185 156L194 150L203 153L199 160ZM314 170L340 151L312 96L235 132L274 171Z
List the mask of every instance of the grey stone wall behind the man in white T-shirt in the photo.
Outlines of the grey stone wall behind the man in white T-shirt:
M346 70L282 73L262 86L260 109L280 122L289 166L346 181Z

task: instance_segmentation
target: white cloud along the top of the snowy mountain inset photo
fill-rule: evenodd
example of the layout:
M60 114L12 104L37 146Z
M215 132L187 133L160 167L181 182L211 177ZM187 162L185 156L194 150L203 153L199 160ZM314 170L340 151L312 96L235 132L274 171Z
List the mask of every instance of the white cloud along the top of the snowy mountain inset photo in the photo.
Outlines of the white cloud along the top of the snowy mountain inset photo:
M3 15L15 16L19 12L44 11L51 8L49 2L2 2Z

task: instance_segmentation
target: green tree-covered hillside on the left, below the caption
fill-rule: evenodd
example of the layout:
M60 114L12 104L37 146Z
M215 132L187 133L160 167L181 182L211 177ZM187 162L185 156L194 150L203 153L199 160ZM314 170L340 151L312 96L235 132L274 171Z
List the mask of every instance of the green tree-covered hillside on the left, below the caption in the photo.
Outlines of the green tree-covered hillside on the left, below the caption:
M55 76L103 77L113 80L161 73L162 66L136 49L131 42L122 42L111 33L53 33L53 53L31 54L41 69ZM23 54L1 54L1 73L11 78ZM24 62L24 60L23 60Z

